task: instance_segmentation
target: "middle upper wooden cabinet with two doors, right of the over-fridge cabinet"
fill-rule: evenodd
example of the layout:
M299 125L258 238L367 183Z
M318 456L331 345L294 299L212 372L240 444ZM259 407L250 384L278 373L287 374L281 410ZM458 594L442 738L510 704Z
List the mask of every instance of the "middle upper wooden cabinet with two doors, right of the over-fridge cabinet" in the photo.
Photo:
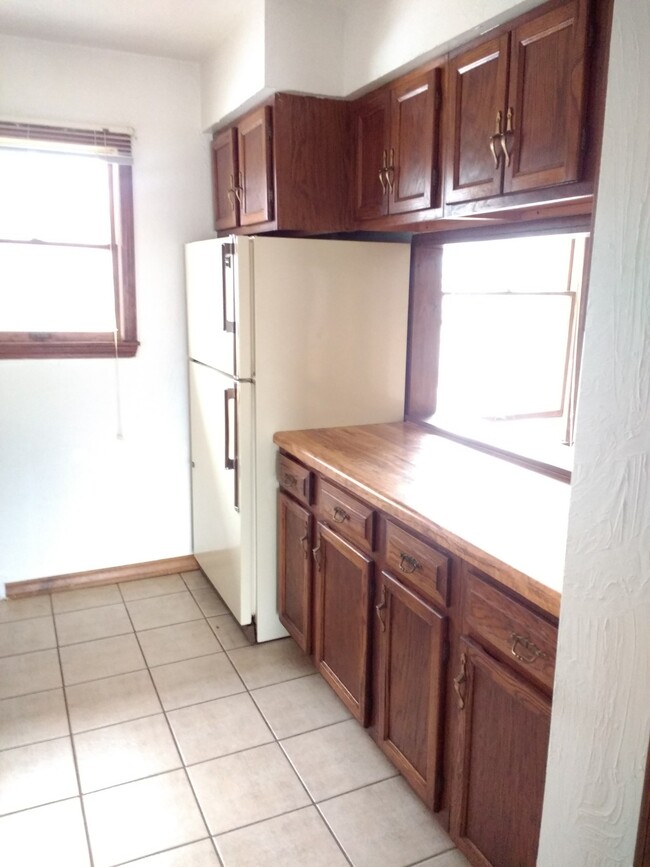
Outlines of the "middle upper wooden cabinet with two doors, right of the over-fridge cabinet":
M354 104L359 221L435 205L440 69L417 71Z

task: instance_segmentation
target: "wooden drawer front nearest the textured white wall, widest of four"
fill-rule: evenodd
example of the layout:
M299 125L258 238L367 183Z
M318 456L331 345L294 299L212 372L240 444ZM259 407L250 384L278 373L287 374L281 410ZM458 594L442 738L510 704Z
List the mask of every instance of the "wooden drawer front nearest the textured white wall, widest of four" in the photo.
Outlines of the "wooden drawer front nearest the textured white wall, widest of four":
M553 689L557 629L471 573L467 574L465 625L527 677Z

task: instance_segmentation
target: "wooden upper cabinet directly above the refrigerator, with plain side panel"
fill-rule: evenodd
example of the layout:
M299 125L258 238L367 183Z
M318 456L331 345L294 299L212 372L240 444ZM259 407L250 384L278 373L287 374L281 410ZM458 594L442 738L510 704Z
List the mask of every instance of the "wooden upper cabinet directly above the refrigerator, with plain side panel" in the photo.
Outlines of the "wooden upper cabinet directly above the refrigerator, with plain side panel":
M350 227L349 104L278 93L212 142L217 231L335 232Z

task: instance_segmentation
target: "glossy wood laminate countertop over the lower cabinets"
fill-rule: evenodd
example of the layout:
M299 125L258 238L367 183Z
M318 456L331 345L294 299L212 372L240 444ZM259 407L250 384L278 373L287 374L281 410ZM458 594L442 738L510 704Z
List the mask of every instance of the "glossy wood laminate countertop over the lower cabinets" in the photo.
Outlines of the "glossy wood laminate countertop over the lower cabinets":
M281 431L281 449L559 616L569 485L408 422Z

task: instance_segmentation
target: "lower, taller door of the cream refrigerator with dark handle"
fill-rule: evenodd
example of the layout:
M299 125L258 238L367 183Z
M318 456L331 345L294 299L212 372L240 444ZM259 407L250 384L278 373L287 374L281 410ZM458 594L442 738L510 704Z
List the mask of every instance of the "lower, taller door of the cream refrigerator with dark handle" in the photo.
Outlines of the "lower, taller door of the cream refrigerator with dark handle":
M250 426L251 399L250 383L190 362L194 556L242 625L253 612L250 457L239 446L247 442L240 428Z

